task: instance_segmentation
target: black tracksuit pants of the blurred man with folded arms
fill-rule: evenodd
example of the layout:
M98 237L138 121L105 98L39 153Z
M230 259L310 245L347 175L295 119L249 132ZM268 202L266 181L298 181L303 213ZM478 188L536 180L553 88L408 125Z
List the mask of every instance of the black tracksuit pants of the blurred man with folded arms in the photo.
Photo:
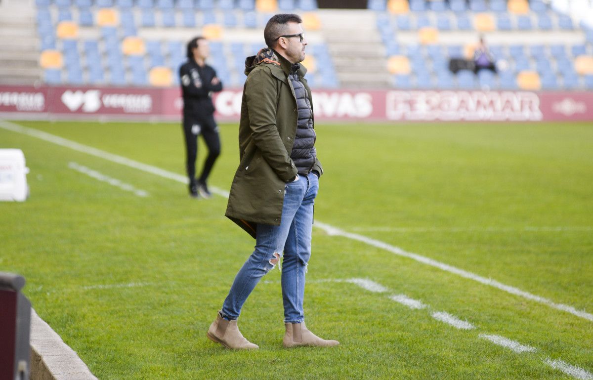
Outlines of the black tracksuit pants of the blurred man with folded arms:
M214 162L221 152L221 140L218 135L218 126L216 125L214 116L209 115L200 118L184 117L183 135L186 142L186 168L190 184L194 184L196 181L197 136L202 135L204 138L204 142L208 147L208 157L206 157L202 173L197 179L206 182Z

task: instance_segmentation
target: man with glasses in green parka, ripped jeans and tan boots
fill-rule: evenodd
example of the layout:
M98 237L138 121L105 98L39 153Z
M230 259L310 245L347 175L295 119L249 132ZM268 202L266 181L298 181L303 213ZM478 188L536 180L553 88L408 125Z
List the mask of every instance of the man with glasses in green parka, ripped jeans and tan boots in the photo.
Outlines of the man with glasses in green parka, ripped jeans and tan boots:
M226 215L256 239L208 330L231 349L257 349L237 318L259 280L282 260L285 347L336 346L305 326L305 273L311 256L313 204L323 174L315 149L313 101L304 78L302 20L278 14L264 29L267 48L246 59L239 124L240 164Z

